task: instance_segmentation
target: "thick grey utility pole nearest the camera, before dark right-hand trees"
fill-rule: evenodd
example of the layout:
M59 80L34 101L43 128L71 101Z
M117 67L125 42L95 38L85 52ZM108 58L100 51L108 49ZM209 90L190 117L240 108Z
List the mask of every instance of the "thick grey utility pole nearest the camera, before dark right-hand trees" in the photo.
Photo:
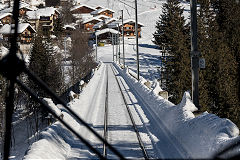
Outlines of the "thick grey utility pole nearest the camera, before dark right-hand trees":
M199 109L199 57L200 52L197 46L197 2L190 0L191 7L191 68L192 68L192 101Z

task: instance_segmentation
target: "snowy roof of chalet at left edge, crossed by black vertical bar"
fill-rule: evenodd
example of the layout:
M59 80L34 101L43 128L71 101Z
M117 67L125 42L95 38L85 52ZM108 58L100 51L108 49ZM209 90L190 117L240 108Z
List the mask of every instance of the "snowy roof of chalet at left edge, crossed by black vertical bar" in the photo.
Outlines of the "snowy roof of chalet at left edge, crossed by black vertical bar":
M14 33L14 29L12 29L12 27L14 27L14 24L5 24L1 29L0 29L0 33L1 34L13 34ZM25 31L27 28L30 28L34 33L36 33L35 29L29 24L29 23L19 23L18 24L18 34L22 33L23 31Z

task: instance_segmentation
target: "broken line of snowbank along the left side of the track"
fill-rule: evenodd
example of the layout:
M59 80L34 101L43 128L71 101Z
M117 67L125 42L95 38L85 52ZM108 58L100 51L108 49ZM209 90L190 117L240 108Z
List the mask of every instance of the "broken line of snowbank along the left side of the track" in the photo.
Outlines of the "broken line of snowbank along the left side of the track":
M93 79L88 83L91 88L93 84L98 83L99 77L102 73L103 65L99 70L96 70L97 74L93 75ZM97 78L97 79L96 79ZM95 83L91 83L95 82ZM84 84L83 81L80 82ZM91 85L92 84L92 85ZM74 92L71 92L74 95ZM64 115L63 120L68 123L76 132L84 131L84 127L77 122L62 105L55 105L51 99L44 98L45 102L50 105L51 109L57 113L60 112ZM83 103L83 102L82 102ZM68 103L68 107L72 107L74 101ZM60 111L61 110L61 111ZM84 109L80 109L84 112ZM79 151L81 150L81 152ZM83 154L80 154L83 153ZM79 155L80 154L80 155ZM23 159L96 159L95 154L92 154L86 145L82 144L78 138L76 138L69 130L67 130L60 122L55 122L53 125L46 128L40 133L40 138L37 142L33 143L28 151L26 151Z

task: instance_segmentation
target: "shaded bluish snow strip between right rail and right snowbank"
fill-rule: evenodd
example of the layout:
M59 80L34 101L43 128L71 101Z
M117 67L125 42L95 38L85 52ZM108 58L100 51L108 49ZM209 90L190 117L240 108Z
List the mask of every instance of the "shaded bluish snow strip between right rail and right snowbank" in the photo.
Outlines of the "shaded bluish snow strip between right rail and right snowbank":
M165 124L162 122L161 117L159 117L156 112L152 109L151 105L144 99L144 97L136 90L133 83L126 77L124 77L122 71L119 68L115 67L119 76L123 78L123 81L126 82L126 85L131 88L131 93L137 98L138 103L141 104L142 109L147 115L152 125L143 124L145 130L148 133L154 133L157 136L159 141L158 143L154 142L154 137L151 134L148 134L151 138L152 145L154 147L157 158L160 159L191 159L190 154L187 152L185 147L178 141L178 139L172 135L172 133L167 129ZM158 135L160 135L158 137Z

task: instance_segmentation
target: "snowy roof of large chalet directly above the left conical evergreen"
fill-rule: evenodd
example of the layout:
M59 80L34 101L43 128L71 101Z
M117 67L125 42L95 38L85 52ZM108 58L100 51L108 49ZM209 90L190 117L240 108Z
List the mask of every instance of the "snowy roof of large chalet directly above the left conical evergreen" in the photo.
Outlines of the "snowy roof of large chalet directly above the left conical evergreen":
M36 11L28 11L26 15L29 19L40 19L40 17L51 17L55 12L58 12L54 7L41 8Z

